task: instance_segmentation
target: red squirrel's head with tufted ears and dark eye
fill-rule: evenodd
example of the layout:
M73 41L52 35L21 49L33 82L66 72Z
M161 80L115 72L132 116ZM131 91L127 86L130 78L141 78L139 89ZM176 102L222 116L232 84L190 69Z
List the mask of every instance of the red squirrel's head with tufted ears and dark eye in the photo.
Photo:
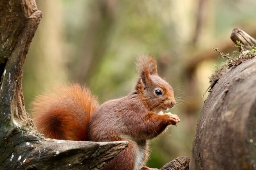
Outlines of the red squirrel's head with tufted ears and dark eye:
M136 65L140 77L135 88L150 110L157 113L172 108L175 105L173 88L157 75L155 58L152 55L140 55Z

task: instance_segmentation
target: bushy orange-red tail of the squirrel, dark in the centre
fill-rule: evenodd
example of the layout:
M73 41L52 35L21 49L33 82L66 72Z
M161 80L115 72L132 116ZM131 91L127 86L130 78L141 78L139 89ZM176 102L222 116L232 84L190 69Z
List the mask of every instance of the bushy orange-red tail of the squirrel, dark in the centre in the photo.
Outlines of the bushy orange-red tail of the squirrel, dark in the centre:
M99 106L97 97L78 84L55 86L31 104L37 130L47 138L85 141L92 114Z

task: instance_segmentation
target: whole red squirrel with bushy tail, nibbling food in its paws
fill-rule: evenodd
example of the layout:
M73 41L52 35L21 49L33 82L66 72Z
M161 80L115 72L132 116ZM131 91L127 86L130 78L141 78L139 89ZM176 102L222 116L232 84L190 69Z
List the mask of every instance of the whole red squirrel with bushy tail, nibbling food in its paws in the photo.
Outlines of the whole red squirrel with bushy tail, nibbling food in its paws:
M159 114L175 105L173 88L157 75L153 56L137 59L139 78L122 98L99 102L88 88L78 84L58 86L32 103L34 123L47 138L76 141L128 141L128 146L103 170L152 170L143 164L148 158L148 139L176 125L177 115ZM141 167L143 166L143 167Z

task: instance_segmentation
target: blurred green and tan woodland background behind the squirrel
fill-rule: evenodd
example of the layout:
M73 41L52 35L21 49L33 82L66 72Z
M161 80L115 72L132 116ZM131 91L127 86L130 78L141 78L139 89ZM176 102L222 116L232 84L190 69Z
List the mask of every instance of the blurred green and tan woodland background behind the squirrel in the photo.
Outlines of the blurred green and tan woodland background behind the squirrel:
M25 106L52 85L86 84L101 103L127 95L141 53L157 59L158 73L181 97L171 109L181 122L151 141L147 165L161 168L191 156L209 76L224 60L212 47L234 51L240 27L256 37L255 0L36 0L43 12L25 61Z

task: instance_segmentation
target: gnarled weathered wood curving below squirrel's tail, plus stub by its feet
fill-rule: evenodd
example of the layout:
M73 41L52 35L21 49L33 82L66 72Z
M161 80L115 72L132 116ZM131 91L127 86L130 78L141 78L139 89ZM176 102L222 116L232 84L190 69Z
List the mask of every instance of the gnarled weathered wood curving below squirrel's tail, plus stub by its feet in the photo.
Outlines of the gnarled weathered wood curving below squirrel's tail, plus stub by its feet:
M40 19L34 0L0 1L0 170L100 170L127 141L91 142L46 139L25 111L23 64ZM179 157L165 169L185 170Z

